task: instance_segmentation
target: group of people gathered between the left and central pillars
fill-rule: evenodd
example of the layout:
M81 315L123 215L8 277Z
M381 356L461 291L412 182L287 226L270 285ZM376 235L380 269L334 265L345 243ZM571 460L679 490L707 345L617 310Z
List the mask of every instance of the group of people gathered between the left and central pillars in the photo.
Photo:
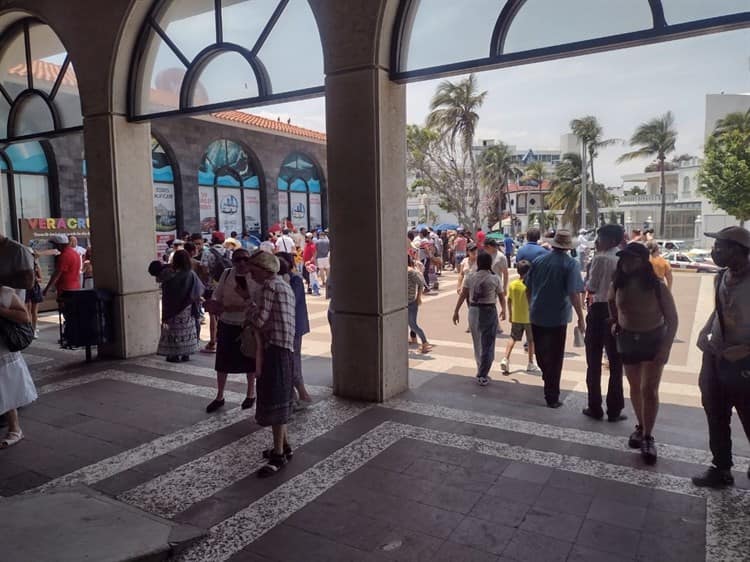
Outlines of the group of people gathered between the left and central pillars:
M231 233L234 235L235 233ZM328 232L285 226L258 247L213 232L184 235L167 255L149 265L161 286L161 335L157 353L172 363L198 351L215 354L216 397L207 413L224 407L230 374L244 374L242 409L255 407L255 419L270 426L273 447L258 472L270 476L292 457L286 424L293 411L312 398L302 376L302 337L310 331L307 295L328 286ZM200 348L203 318L209 341Z

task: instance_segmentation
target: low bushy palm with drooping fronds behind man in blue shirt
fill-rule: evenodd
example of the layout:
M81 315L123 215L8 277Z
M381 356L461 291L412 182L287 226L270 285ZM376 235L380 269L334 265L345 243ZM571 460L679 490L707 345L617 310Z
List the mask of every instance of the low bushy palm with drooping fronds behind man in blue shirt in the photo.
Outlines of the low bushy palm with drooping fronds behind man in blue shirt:
M552 192L547 196L550 209L563 211L563 222L572 225L574 230L582 228L581 212L583 192L583 160L578 154L564 154L557 165L552 179ZM598 199L605 207L614 205L615 197L602 184L593 184L588 189L593 195L586 200L592 210Z

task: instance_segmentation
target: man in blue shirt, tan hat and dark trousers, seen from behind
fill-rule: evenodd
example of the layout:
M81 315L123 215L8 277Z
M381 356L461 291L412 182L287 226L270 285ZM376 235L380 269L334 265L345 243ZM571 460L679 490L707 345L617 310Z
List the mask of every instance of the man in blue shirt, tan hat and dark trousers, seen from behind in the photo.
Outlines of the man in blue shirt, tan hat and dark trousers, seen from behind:
M558 230L550 242L552 251L538 257L526 275L526 294L531 309L537 364L544 379L544 399L549 408L559 408L560 377L565 356L565 336L575 308L578 329L586 332L581 293L581 267L568 255L573 237L567 230Z

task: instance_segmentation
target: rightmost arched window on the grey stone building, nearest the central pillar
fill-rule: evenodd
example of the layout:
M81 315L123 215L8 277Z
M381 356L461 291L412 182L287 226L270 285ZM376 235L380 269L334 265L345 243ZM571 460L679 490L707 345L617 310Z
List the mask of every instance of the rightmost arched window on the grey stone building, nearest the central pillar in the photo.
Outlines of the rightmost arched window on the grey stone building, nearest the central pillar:
M323 202L318 166L302 154L289 155L278 179L279 220L290 217L297 228L323 226Z

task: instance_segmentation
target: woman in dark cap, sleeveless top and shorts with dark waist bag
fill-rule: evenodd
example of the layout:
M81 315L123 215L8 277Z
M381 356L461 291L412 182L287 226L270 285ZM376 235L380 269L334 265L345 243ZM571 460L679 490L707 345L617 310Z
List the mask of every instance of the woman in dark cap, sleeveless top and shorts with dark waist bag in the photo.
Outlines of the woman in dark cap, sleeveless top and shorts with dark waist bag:
M671 291L654 272L644 244L631 242L617 256L610 317L638 419L628 445L641 450L646 464L654 464L659 383L677 333L677 308Z

